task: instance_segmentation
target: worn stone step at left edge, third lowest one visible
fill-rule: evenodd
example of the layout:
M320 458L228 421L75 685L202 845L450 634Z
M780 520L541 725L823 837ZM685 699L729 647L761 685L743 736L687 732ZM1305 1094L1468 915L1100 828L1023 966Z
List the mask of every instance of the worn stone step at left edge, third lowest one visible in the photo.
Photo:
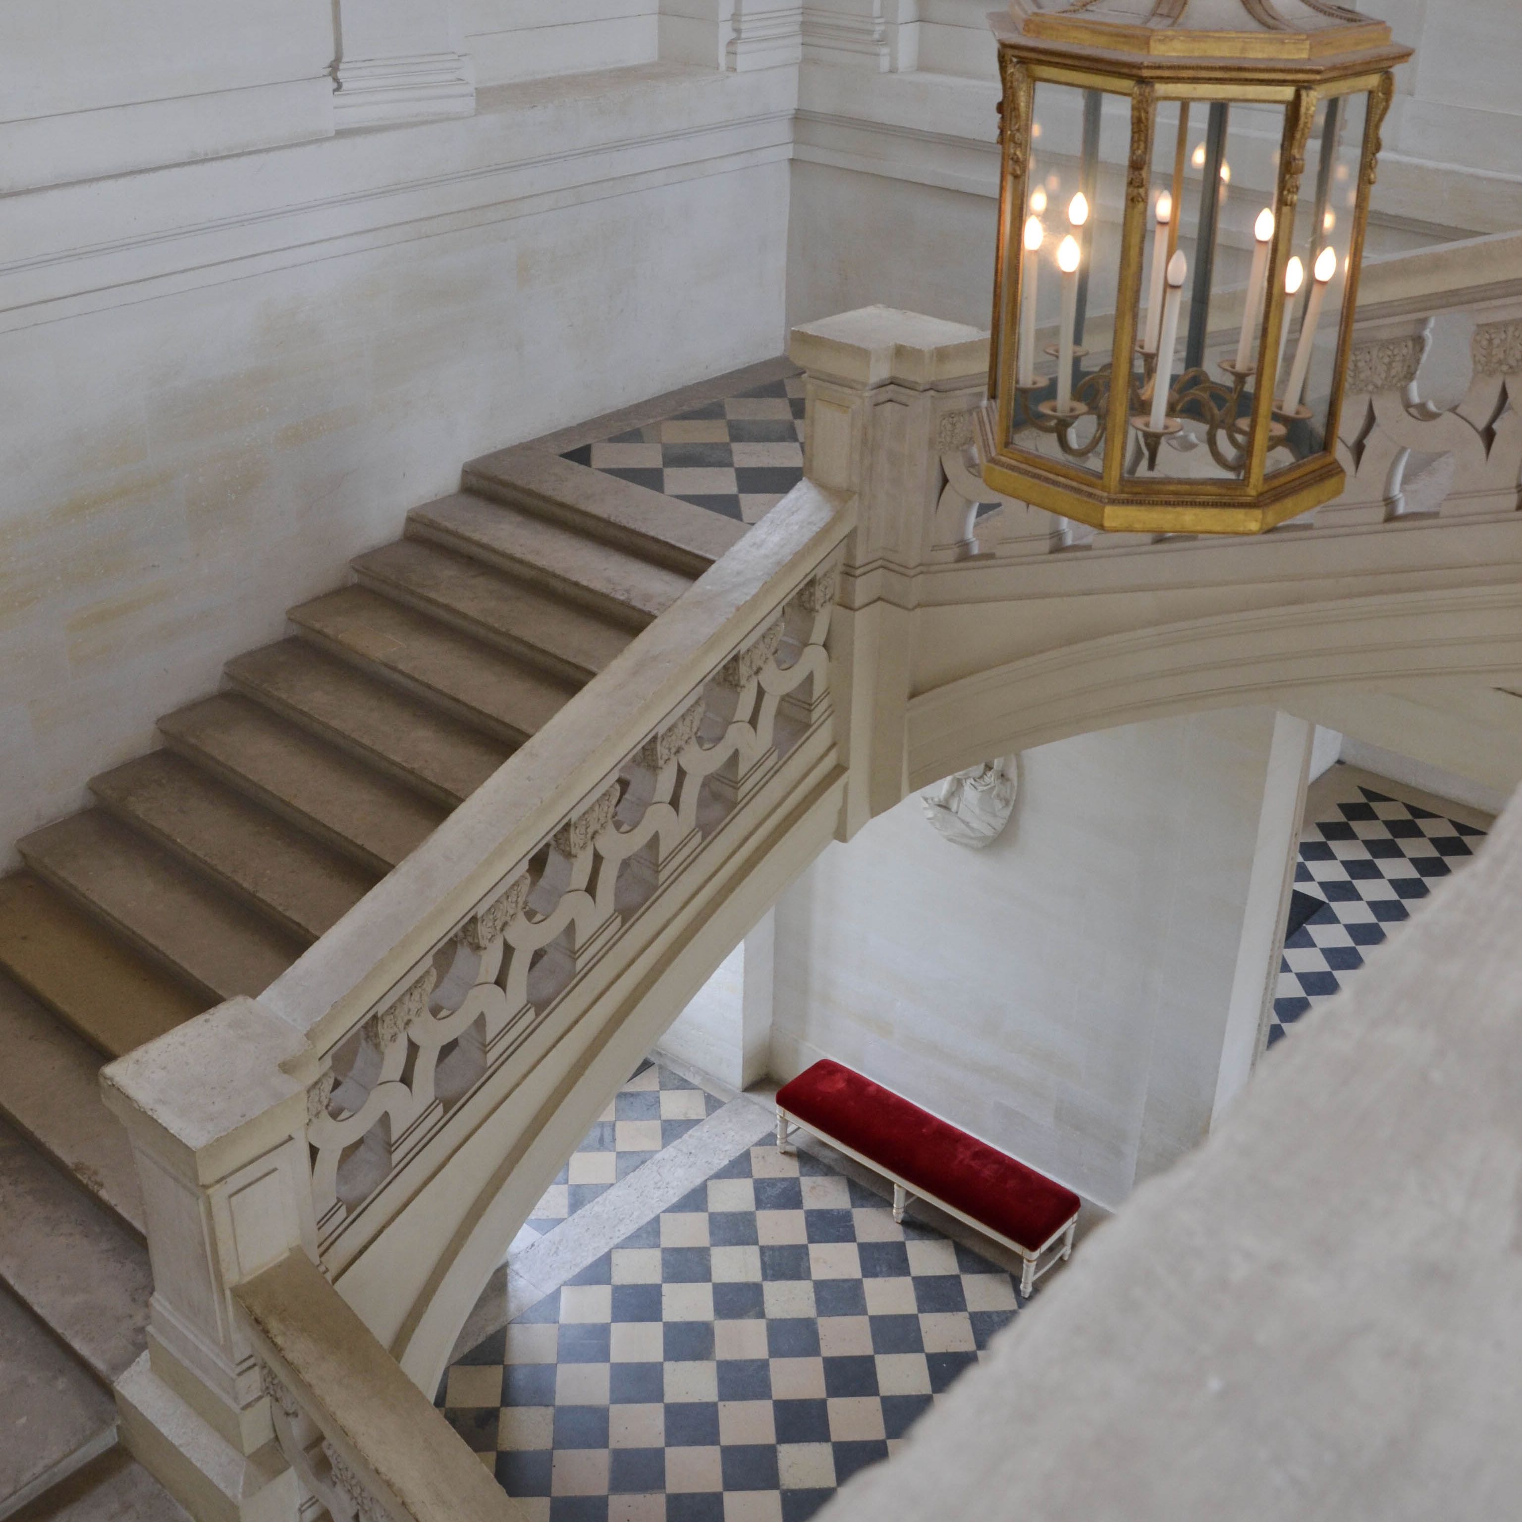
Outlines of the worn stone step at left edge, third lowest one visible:
M143 1352L148 1248L0 1122L0 1280L103 1383Z

